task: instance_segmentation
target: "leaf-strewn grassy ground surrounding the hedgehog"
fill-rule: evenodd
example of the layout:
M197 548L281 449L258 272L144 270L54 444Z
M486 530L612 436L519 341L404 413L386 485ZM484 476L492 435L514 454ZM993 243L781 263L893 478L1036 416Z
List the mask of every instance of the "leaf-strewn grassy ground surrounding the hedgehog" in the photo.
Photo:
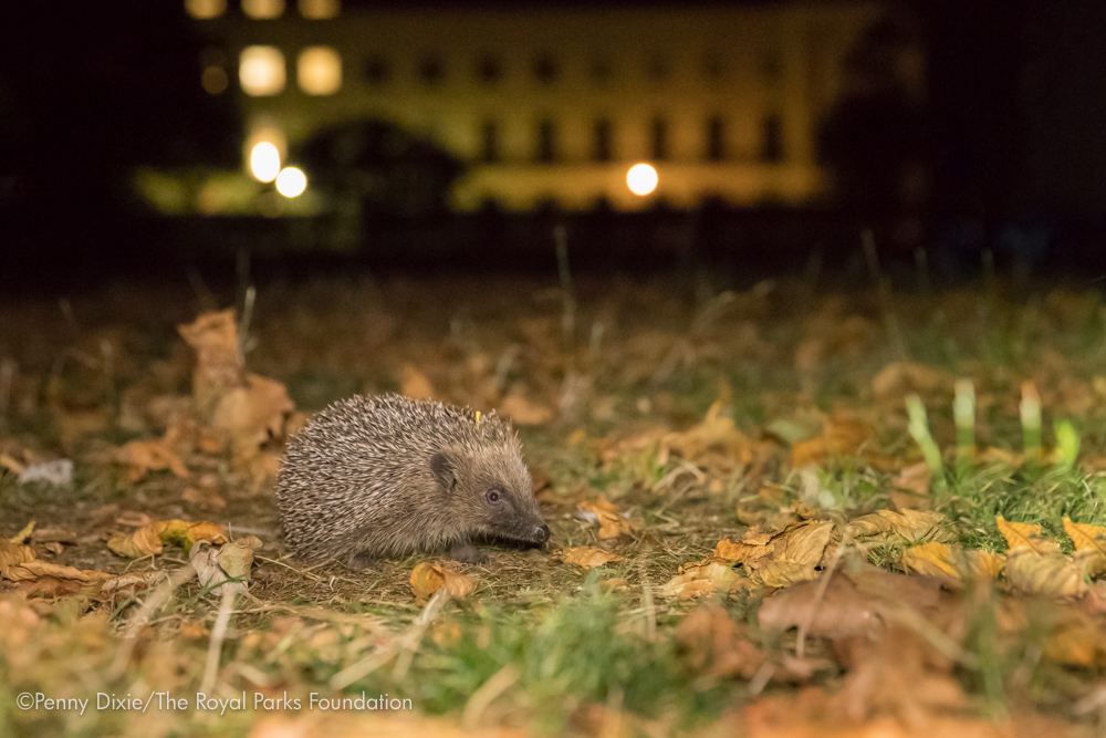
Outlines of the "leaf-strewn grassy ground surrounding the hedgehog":
M0 305L6 735L1100 728L1096 291L180 282ZM511 416L551 544L298 562L284 437L386 391ZM233 599L211 530L253 557ZM411 709L319 701L362 693Z

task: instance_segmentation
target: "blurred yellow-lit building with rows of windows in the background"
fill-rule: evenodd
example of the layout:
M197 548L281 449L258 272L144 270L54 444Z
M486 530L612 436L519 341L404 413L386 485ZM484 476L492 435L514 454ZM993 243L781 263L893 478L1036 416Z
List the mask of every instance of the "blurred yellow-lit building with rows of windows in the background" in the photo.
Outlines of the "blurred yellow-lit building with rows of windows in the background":
M184 6L209 42L197 84L241 105L247 167L258 144L286 158L327 125L384 119L469 165L452 194L461 210L808 202L825 187L818 123L884 10ZM647 196L627 186L638 163L658 175Z

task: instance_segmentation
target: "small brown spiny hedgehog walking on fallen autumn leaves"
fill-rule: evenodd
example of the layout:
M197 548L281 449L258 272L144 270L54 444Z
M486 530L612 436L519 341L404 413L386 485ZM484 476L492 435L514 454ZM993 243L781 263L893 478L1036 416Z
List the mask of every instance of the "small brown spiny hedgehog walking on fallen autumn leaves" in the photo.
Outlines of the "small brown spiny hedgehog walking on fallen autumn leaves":
M355 395L319 413L288 445L276 501L299 559L378 559L448 551L473 539L541 545L550 529L522 444L494 413L401 395Z

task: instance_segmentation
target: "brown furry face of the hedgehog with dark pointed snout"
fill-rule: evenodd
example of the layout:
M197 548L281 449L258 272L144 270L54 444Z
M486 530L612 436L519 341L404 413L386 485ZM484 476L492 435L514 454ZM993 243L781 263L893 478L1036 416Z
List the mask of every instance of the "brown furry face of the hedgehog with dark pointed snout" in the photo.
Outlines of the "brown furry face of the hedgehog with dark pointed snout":
M535 544L549 540L530 470L517 450L442 451L430 459L430 470L472 533Z

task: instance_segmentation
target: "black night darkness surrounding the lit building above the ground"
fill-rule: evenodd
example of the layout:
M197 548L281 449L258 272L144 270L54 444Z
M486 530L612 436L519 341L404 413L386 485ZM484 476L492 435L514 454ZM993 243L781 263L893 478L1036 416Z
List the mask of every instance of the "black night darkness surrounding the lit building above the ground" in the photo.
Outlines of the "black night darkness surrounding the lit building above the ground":
M345 0L344 9L399 4L410 7ZM0 23L0 280L7 289L39 289L182 269L223 273L242 253L253 269L276 273L351 266L545 272L555 269L556 225L566 226L573 268L583 270L709 266L738 281L812 268L847 273L864 268L860 233L870 228L893 274L924 264L957 280L990 263L1075 280L1106 274L1106 6L919 0L888 8L919 20L926 100L908 110L877 90L843 104L827 121L822 156L848 184L825 202L705 202L696 211L660 206L636 215L602 207L384 214L371 248L291 256L290 247L312 242L321 226L159 218L129 195L137 165L239 165L241 122L230 95L209 96L196 83L200 41L180 3L13 3ZM876 74L878 41L874 56L857 60ZM880 238L900 214L878 194L905 158L929 177L920 253Z

